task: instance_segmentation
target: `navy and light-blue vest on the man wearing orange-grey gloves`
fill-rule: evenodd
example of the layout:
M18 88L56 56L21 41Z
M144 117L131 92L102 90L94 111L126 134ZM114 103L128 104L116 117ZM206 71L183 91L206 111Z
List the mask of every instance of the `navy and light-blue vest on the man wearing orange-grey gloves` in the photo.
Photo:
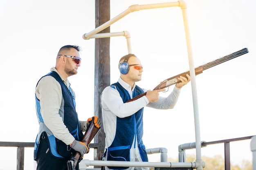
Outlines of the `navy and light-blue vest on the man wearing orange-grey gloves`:
M67 88L67 86L64 84L61 77L58 75L58 73L56 73L55 71L52 71L52 72L48 73L47 75L54 77L61 85L62 96L64 99L64 115L63 115L63 117L62 116L61 117L63 119L65 126L67 126L67 129L70 131L71 135L73 135L73 137L76 140L80 141L83 138L83 133L80 130L79 119L78 119L78 116L76 113L76 108L75 108L76 103L75 103L74 94L70 87ZM45 76L47 76L47 75L45 75ZM45 77L45 76L43 76L43 77ZM45 124L43 122L43 118L40 113L40 101L37 97L36 97L36 106L37 106L37 113L38 113L37 116L40 121L40 124L39 124L39 129L40 129L40 127L45 126ZM54 137L54 135L49 135L49 133L52 133L52 132L50 132L50 130L48 128L45 130L45 132L48 135L47 138L49 141L49 148L54 157L60 158L60 159L70 159L72 157L72 154L74 155L74 153L76 151L71 149L70 146L67 146L63 141ZM38 137L42 133L45 134L45 132L38 133ZM38 137L35 142L35 150L34 150L34 159L35 160L36 160L36 153L38 150L39 139L40 139L40 138L38 139Z

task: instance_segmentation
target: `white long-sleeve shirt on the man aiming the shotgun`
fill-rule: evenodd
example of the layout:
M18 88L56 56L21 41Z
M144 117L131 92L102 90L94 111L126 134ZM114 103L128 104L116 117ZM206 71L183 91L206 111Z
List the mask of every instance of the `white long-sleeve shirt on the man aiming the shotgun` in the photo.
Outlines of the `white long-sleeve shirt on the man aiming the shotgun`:
M132 92L135 88L135 85L133 88L131 88L131 86L124 82L124 80L122 80L121 77L118 79L118 82L128 91L130 97L132 98ZM146 89L143 90L144 92L147 91ZM103 128L106 134L105 148L107 149L112 144L112 141L115 138L117 117L128 117L130 115L133 115L139 109L145 106L156 109L171 109L177 103L180 91L181 89L175 86L173 88L172 93L168 95L168 97L159 96L159 99L156 102L149 102L147 97L143 96L135 101L124 103L119 94L119 91L117 91L114 88L111 88L110 86L106 87L101 94ZM138 147L134 147L134 143L135 142L133 141L130 150L130 160L135 161L135 159L137 158L139 161L142 161ZM138 144L138 142L136 142L136 144ZM127 170L131 170L133 168L134 167L130 167Z

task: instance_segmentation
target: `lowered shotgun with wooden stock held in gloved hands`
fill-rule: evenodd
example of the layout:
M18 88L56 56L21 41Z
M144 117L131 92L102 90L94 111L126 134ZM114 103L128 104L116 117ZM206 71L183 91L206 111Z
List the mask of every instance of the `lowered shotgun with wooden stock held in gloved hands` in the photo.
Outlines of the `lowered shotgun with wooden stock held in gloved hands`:
M95 137L95 135L99 132L101 126L98 128L94 126L94 117L92 117L92 120L89 122L87 129L85 130L85 134L83 135L82 142L85 143L85 145L88 146L89 152L89 144L92 141L92 139ZM76 152L76 154L71 158L71 160L67 161L67 170L76 170L76 164L82 160L80 152Z

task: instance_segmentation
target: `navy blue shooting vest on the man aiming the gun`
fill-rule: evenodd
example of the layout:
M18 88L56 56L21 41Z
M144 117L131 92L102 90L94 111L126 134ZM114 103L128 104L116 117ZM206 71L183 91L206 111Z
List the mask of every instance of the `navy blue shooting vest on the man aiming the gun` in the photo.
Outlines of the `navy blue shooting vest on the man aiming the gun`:
M119 91L120 96L123 99L123 102L130 100L130 95L128 91L121 86L121 84L114 83L110 87L117 89ZM132 97L136 97L144 93L143 89L139 86L135 86L135 89L132 93ZM129 117L119 118L117 117L117 127L115 138L108 148L108 161L130 161L130 148L132 147L132 142L135 137L135 145L136 138L138 141L139 153L142 158L142 161L148 161L148 157L146 154L146 148L142 141L143 136L143 110L141 108L135 114L130 115ZM128 167L108 167L110 169L121 170L127 169Z

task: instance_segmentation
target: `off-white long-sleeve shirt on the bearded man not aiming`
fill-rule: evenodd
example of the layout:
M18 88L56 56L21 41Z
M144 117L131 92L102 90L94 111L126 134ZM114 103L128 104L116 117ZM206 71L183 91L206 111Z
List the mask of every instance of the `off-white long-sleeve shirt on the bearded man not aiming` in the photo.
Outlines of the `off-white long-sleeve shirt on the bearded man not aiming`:
M58 73L54 67L51 68L51 71ZM70 86L68 79L66 79L66 81L64 79L62 80L67 87ZM63 141L66 145L71 144L74 141L74 137L70 134L63 122L63 119L59 115L62 100L61 85L54 77L45 76L40 79L36 86L36 97L40 100L40 113L46 125L44 128L48 128L56 138ZM38 122L40 123L39 120ZM40 137L41 132L48 130L39 129L39 131L40 132L38 132L38 134Z

